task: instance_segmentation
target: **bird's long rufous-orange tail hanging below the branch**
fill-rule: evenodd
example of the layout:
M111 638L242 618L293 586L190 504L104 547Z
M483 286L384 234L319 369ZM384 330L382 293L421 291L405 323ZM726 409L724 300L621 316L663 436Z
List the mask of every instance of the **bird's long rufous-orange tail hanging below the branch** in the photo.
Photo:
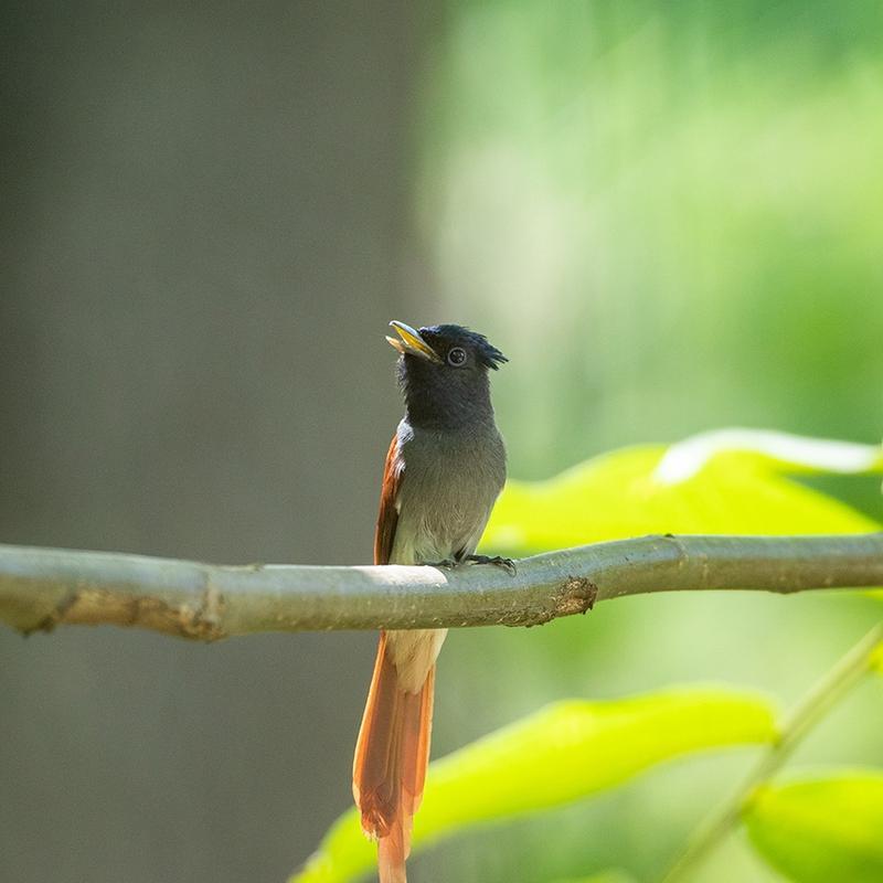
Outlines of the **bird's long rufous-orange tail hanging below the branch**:
M380 883L406 881L411 825L429 758L434 682L432 664L422 688L405 690L387 634L381 632L352 777L362 828L377 840Z

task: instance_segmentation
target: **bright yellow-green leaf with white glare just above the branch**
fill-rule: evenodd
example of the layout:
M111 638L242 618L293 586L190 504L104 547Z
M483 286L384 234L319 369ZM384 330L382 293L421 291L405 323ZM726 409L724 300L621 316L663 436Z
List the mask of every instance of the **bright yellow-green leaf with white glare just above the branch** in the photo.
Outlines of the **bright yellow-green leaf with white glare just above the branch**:
M482 545L514 556L647 533L861 533L881 523L788 474L881 472L883 449L720 430L604 454L546 481L510 481Z

